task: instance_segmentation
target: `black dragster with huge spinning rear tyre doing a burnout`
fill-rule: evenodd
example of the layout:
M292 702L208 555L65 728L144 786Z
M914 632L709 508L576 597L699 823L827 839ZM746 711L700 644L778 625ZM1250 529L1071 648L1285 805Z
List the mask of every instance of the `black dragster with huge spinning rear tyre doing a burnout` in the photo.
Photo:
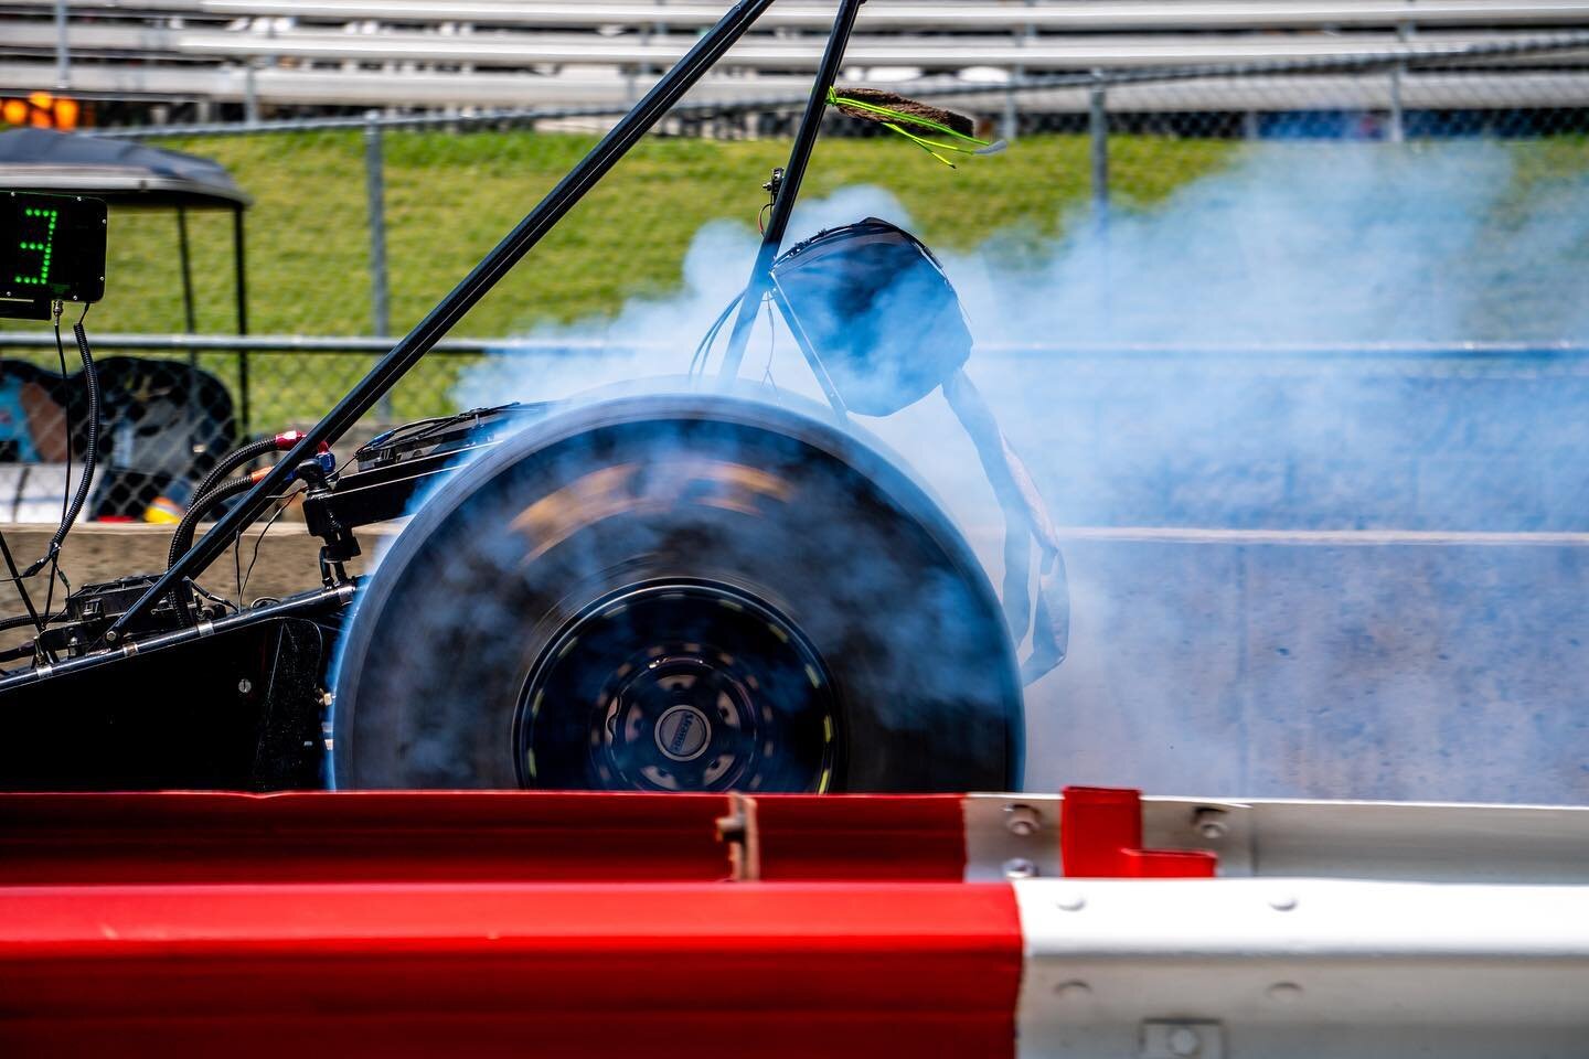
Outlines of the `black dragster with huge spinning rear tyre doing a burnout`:
M783 246L831 110L938 157L998 148L960 114L836 87L856 3L841 5L790 159L763 184L750 278L688 376L332 448L769 3L728 11L321 422L216 460L164 572L78 587L51 613L29 581L54 578L97 445L100 384L75 327L86 470L49 554L22 568L3 549L27 611L6 626L32 635L0 662L0 786L1019 789L1023 683L1065 653L1063 564L963 372L955 292L926 246L874 218ZM43 246L48 283L0 298L59 330L64 306L103 294L103 203L6 197L24 232L8 246ZM826 403L736 379L767 302ZM934 389L1004 508L1003 599L855 422ZM249 470L262 459L275 462ZM251 603L205 589L203 570L294 491L323 586ZM412 518L377 570L351 576L359 530L399 516Z

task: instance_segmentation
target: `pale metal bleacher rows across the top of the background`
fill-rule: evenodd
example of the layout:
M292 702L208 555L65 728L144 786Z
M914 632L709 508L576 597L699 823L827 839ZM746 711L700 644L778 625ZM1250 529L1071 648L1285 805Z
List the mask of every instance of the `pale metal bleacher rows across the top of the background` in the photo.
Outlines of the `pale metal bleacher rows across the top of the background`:
M68 87L83 98L267 108L612 106L644 92L726 6L75 0ZM52 0L0 2L0 95L57 87L52 14ZM801 92L831 17L831 3L775 5L691 98ZM1583 29L1589 0L871 0L847 52L847 79L963 79L996 92L1011 75L1390 54ZM1433 73L1409 76L1398 90L1408 106L1589 105L1589 49L1513 59L1510 70L1483 100ZM1308 81L1281 87L1195 83L1177 87L1177 106L1293 106ZM1085 92L1050 92L1028 105L1079 111L1087 102ZM1141 86L1120 105L1162 100Z

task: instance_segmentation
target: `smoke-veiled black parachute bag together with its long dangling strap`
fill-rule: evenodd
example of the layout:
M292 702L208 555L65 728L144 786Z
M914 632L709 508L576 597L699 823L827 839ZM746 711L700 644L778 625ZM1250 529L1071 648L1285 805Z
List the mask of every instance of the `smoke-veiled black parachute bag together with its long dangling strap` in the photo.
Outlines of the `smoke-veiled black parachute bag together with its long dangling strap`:
M993 410L961 370L971 329L942 265L922 240L877 218L818 232L772 264L774 297L829 399L888 416L942 387L1004 511L1004 618L1022 680L1065 660L1069 587L1049 511ZM1038 560L1031 592L1033 553Z

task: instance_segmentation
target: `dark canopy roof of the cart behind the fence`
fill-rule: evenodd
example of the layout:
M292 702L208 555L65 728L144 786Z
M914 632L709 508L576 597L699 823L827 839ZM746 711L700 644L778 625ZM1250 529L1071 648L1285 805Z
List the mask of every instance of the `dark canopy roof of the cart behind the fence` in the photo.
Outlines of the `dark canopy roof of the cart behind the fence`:
M243 210L253 202L219 162L52 129L0 132L0 187L92 195L119 206Z

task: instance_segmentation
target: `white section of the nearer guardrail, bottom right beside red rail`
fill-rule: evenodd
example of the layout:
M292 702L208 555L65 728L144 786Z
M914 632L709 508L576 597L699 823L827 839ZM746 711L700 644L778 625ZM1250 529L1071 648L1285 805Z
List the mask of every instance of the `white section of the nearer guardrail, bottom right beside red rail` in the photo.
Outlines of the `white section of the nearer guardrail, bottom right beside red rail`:
M1014 886L1023 1059L1568 1059L1589 1049L1589 886Z

